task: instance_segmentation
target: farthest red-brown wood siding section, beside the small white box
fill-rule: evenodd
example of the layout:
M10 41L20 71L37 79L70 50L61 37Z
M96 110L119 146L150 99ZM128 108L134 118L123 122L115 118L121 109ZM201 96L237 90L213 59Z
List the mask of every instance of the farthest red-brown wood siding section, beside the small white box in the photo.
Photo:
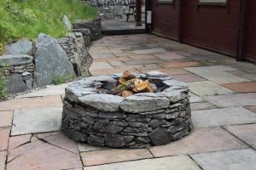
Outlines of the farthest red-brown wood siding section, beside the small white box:
M172 39L178 39L179 1L173 4L157 3L151 0L153 9L153 32Z

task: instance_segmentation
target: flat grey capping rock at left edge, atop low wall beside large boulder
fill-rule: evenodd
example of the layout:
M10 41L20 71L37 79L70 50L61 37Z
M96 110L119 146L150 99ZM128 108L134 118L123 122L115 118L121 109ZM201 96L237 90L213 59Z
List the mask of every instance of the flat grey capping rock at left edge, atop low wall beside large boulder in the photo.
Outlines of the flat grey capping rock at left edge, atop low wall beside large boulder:
M33 57L26 54L12 54L0 56L0 66L27 65L32 63Z

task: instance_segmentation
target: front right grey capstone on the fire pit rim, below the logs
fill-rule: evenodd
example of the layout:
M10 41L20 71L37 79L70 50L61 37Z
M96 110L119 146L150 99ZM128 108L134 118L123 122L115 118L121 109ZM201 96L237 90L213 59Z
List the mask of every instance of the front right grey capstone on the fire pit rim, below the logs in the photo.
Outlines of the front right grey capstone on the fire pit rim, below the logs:
M120 107L125 112L141 113L156 111L168 107L170 100L154 94L131 95L124 99Z

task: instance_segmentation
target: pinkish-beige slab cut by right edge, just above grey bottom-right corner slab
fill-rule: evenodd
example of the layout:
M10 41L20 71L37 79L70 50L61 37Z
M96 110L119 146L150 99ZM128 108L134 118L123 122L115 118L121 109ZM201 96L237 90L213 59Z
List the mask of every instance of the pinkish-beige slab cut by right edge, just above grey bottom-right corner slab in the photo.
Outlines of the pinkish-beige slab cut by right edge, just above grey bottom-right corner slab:
M236 125L224 128L256 150L256 124Z

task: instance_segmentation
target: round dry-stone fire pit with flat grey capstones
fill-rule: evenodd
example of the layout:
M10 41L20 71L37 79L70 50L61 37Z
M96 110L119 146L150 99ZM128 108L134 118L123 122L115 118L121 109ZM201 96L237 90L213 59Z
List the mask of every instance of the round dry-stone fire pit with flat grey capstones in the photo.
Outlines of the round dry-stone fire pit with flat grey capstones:
M120 75L88 77L66 88L62 130L77 142L111 148L145 148L191 131L189 88L159 71L137 75L155 93L109 94Z

